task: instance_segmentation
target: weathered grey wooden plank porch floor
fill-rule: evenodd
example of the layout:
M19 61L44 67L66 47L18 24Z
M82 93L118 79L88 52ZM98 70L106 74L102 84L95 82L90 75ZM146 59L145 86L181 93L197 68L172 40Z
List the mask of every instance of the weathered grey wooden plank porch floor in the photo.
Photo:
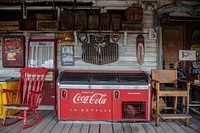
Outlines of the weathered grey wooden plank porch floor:
M180 120L160 122L156 127L154 120L147 123L58 121L52 110L39 113L45 117L36 126L22 129L23 122L7 127L1 124L0 133L200 133L200 120L195 118L191 118L189 127Z

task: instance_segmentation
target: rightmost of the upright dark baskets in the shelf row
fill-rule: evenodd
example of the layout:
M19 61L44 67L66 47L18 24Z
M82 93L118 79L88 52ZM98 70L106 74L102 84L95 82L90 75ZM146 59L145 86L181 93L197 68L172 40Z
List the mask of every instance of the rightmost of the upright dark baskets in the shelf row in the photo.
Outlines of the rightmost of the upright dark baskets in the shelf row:
M112 30L121 30L121 14L112 14L111 16Z

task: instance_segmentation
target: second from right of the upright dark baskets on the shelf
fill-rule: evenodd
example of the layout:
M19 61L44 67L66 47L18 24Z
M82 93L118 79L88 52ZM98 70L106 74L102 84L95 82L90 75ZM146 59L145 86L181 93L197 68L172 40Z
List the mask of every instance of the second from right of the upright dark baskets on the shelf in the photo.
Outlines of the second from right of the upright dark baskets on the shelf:
M110 30L110 14L109 13L101 13L100 14L100 30Z

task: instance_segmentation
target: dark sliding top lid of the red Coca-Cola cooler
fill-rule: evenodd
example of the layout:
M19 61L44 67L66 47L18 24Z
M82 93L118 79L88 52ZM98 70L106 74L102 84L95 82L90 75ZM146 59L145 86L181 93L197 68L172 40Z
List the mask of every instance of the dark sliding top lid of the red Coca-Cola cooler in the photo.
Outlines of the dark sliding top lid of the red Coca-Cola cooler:
M148 85L148 77L144 72L62 72L59 82L88 85Z

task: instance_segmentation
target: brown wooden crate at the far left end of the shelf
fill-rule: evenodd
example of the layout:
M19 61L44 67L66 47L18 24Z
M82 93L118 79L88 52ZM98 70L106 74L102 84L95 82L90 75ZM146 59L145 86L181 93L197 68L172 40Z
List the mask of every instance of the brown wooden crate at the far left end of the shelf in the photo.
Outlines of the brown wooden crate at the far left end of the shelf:
M19 30L19 21L0 21L0 31Z

